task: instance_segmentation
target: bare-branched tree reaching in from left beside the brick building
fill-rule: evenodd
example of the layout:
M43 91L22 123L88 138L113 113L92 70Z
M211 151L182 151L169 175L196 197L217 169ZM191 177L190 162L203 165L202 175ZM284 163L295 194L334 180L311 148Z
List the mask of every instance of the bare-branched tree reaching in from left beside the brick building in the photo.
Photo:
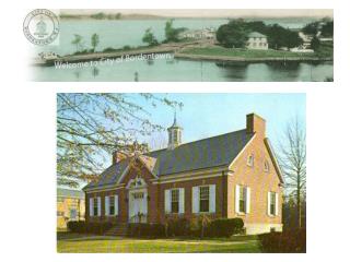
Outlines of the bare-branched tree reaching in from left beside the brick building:
M182 107L182 103L152 94L60 93L57 95L57 181L78 187L96 179L113 152L132 155L148 150L138 138L163 127L150 120L144 105ZM142 105L140 105L142 102Z

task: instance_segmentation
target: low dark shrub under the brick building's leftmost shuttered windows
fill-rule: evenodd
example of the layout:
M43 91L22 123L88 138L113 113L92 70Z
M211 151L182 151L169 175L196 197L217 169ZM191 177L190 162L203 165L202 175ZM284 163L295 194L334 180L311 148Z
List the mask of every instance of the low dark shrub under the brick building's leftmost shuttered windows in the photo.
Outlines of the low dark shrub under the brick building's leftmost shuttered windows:
M104 234L110 229L113 224L110 222L68 222L67 227L72 233L84 234Z

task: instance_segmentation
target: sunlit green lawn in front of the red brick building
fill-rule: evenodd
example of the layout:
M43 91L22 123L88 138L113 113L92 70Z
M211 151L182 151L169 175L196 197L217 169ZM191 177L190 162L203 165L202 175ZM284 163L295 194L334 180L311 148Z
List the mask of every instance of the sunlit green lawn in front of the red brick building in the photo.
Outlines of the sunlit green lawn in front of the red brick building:
M256 237L231 239L132 239L65 234L58 236L60 253L256 253Z

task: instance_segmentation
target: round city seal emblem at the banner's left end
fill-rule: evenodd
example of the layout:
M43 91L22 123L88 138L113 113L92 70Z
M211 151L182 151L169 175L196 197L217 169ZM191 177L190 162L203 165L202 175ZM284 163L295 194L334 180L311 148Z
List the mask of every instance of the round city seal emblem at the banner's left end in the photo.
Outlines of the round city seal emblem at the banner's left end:
M59 34L58 17L47 9L33 10L24 20L23 32L34 45L51 44Z

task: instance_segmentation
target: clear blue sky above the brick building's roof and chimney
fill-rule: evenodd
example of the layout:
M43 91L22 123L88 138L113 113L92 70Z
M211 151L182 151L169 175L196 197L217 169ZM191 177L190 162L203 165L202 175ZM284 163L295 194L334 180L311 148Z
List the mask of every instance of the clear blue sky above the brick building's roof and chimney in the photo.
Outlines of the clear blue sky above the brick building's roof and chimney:
M245 128L245 116L255 112L267 121L267 135L273 144L281 140L288 122L298 117L305 124L305 94L158 94L182 102L183 109L177 110L177 122L183 127L183 142L190 142ZM144 100L140 97L140 104ZM173 123L174 110L166 106L152 108L145 105L151 120L165 128ZM167 140L166 131L162 139Z

